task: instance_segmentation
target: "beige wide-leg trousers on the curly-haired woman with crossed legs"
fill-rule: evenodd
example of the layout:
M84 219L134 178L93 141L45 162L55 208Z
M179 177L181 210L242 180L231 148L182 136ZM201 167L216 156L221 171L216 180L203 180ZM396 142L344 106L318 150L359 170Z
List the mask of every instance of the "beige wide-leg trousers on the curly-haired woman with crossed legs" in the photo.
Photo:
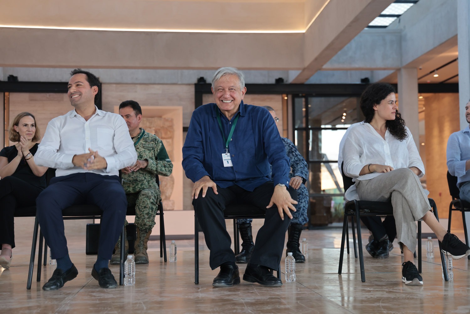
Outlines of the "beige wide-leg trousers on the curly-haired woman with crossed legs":
M392 201L400 248L416 248L416 223L431 210L419 178L408 168L395 169L370 180L356 181L363 201ZM392 239L390 239L392 240Z

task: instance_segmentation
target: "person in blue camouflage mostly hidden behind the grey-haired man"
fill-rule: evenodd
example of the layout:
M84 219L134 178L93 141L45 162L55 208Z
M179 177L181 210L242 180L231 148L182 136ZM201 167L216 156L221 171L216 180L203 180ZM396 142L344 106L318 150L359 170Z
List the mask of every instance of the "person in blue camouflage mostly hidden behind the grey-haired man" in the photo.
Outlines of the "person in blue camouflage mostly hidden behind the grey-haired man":
M270 106L263 106L274 118L274 121L279 121L276 117L274 109ZM298 152L297 147L292 143L289 138L281 137L284 146L286 147L287 156L290 158L290 167L292 172L289 174L290 183L297 190L297 201L298 204L294 205L297 209L296 212L292 213L292 220L289 226L289 240L287 241L287 252L292 252L292 256L295 258L296 263L305 262L305 256L299 250L299 239L300 233L302 232L302 226L308 221L307 218L307 207L308 207L308 191L305 186L305 182L308 179L308 167L304 157ZM236 256L237 263L248 263L251 258L251 252L254 248L253 236L251 233L251 221L253 219L237 219L237 224L242 237L242 251Z

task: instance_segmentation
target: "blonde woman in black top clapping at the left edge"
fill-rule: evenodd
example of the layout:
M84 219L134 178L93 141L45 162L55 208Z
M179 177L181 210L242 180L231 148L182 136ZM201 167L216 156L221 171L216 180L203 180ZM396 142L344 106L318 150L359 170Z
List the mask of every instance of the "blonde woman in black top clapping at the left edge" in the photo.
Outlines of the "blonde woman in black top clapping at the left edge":
M36 198L46 187L47 167L34 162L40 139L36 119L20 113L13 120L9 138L16 145L0 151L0 266L9 268L15 247L14 216L19 207L36 205Z

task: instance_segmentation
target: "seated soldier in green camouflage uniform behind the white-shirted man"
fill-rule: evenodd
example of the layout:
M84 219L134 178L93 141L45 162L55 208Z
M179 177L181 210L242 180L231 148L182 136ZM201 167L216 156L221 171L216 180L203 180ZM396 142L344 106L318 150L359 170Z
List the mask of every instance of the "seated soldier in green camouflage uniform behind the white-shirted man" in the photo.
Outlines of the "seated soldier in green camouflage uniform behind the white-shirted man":
M137 240L134 244L135 263L148 264L147 244L155 225L158 203L161 201L155 175L168 177L172 173L173 164L168 158L162 140L139 128L142 110L137 102L133 100L122 102L119 105L119 114L129 128L137 152L135 165L121 169L122 185L128 206L135 206L134 223L137 226ZM119 264L120 240L116 244L116 253L111 258L111 264ZM127 241L125 247L127 250Z

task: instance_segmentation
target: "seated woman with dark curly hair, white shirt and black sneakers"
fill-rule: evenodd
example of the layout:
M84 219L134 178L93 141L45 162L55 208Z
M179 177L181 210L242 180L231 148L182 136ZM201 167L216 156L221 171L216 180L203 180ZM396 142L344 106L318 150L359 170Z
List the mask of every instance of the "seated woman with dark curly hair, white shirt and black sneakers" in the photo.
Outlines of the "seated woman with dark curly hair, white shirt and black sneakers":
M447 233L431 212L419 177L424 166L413 136L396 104L395 90L387 83L369 85L360 99L365 123L351 129L344 146L344 172L355 185L346 191L348 200L392 201L397 238L403 250L402 282L422 285L413 264L416 223L423 219L441 242L442 252L454 259L470 254L470 248ZM421 241L421 239L420 239Z

